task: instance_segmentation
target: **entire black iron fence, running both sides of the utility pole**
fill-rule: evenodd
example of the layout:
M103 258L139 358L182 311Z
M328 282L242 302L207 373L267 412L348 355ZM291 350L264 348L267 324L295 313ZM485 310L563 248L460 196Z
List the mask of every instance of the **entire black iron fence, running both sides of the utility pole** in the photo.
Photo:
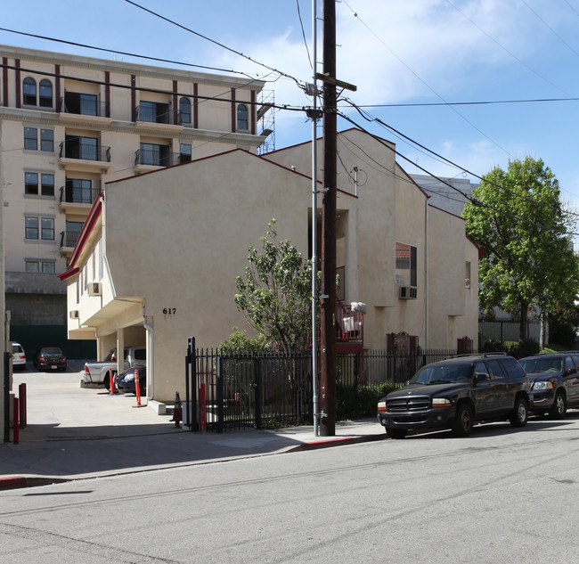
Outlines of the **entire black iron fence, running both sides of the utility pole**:
M338 383L352 387L404 383L424 364L456 352L418 349L397 354L364 350L361 354L338 355L336 377ZM192 430L224 432L311 423L311 355L311 351L229 355L217 349L196 349L194 339L190 339L184 424Z

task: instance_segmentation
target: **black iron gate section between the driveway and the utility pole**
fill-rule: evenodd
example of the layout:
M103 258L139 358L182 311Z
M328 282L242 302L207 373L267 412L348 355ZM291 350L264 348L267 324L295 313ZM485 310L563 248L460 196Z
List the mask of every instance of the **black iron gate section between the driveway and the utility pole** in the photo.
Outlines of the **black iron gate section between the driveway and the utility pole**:
M224 355L188 340L184 424L191 430L279 428L311 422L311 354Z

